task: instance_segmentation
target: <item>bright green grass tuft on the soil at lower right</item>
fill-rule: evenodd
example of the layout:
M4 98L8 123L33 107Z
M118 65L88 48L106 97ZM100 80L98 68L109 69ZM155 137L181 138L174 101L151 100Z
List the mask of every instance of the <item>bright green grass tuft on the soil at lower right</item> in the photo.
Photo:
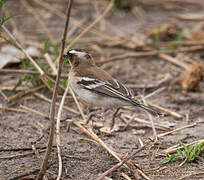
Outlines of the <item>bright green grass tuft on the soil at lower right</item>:
M202 158L203 152L204 152L204 141L197 144L197 145L190 145L186 146L184 143L179 142L183 150L178 149L177 153L173 155L167 155L162 161L161 164L170 163L175 160L182 160L183 165L185 162L191 163L195 161L202 161L204 162L204 159Z

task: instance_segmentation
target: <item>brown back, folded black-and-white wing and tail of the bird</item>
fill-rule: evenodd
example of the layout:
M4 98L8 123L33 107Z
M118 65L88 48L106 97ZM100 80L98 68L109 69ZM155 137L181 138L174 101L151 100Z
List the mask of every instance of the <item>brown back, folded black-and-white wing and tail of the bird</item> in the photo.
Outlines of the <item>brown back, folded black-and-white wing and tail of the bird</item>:
M113 79L107 72L97 66L94 66L94 68L89 67L89 69L84 67L83 69L84 71L78 71L79 79L77 82L83 88L107 97L124 100L145 109L153 115L160 115L156 110L137 101L122 83Z

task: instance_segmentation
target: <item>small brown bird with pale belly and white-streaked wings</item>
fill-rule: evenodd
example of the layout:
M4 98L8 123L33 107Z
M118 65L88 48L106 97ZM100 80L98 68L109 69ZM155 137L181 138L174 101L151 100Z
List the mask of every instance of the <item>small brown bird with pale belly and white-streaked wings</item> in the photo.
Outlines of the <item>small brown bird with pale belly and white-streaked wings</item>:
M154 116L161 115L157 110L136 100L125 85L98 67L86 50L71 49L63 57L71 64L68 83L79 98L90 106L105 108L134 106Z

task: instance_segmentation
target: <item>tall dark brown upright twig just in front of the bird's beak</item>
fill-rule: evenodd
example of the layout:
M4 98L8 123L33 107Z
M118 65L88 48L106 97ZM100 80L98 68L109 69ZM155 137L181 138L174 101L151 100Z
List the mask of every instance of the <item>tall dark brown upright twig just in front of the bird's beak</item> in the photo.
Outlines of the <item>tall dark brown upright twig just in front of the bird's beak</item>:
M53 143L53 137L54 137L54 125L55 125L55 121L54 121L55 102L56 102L58 84L59 84L59 79L60 79L60 74L61 74L61 69L62 69L62 57L63 57L63 53L64 53L65 39L66 39L66 35L67 35L67 30L68 30L71 7L72 7L72 0L69 0L68 8L67 8L67 19L65 22L64 32L62 35L61 49L60 49L59 62L58 62L59 64L58 64L57 78L56 78L56 82L55 82L54 92L53 92L53 96L52 96L52 103L51 103L51 107L50 107L50 133L49 133L48 146L46 149L46 153L45 153L43 163L41 165L40 173L38 174L37 180L43 179L43 176L44 176L46 169L47 169L49 155L50 155L50 152L52 150L52 143Z

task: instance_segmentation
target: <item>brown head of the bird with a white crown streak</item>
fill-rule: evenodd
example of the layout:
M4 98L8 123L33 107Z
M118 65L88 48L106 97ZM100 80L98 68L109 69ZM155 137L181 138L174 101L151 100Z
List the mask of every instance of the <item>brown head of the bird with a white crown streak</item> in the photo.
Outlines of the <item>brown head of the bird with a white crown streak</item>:
M95 65L92 56L82 49L72 49L64 54L64 58L68 59L72 66L76 67L79 64Z

